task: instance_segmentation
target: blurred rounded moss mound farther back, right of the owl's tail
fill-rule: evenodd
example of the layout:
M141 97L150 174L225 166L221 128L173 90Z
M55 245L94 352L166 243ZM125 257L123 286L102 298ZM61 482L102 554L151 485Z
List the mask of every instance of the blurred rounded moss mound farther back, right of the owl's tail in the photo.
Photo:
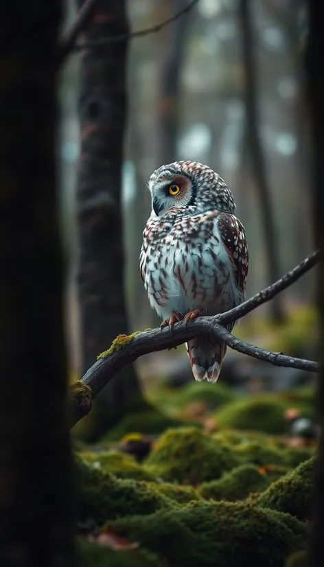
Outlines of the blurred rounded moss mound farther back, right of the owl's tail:
M259 430L279 435L287 431L285 410L291 406L291 401L282 393L261 393L225 404L215 417L219 428ZM313 417L312 404L295 400L294 407L301 410L303 417Z

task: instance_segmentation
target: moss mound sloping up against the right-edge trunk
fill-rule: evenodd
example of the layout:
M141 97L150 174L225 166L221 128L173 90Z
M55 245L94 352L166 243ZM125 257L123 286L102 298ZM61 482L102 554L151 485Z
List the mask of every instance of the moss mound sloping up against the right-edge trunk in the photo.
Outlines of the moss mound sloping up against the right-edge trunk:
M279 478L254 500L254 505L288 512L305 520L309 518L310 502L314 489L316 456Z

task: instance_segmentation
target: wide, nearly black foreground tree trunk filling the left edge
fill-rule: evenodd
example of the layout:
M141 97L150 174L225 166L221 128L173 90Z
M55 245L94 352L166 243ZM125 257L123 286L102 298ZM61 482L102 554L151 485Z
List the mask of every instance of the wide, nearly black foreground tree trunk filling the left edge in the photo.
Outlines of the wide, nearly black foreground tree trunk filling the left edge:
M60 0L8 3L0 19L1 567L73 565L54 161L59 21Z

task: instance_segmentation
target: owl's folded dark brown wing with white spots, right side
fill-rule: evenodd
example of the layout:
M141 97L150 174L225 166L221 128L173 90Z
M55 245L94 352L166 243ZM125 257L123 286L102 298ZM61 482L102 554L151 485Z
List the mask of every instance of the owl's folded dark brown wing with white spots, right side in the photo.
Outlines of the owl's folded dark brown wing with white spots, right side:
M242 222L234 215L220 213L217 218L218 231L226 251L236 268L238 288L244 296L246 278L248 277L248 247L246 233Z

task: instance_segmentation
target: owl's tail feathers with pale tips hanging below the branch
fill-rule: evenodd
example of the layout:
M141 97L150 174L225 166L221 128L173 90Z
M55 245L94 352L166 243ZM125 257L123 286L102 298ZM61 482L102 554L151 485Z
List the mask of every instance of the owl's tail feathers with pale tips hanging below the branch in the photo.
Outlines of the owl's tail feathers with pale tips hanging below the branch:
M196 337L186 343L192 373L197 382L217 382L222 361L227 351L224 343L211 341L206 337Z

